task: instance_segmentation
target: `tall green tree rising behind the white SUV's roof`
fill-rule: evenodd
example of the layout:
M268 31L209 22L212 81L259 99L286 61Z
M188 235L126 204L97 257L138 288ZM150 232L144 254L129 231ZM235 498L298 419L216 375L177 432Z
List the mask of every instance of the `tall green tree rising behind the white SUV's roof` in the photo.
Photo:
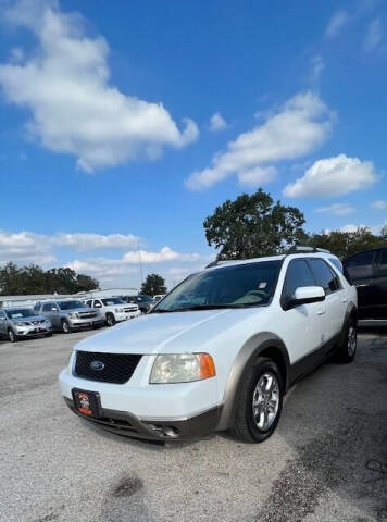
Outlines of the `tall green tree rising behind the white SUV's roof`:
M305 220L296 207L274 203L261 188L225 201L203 223L210 246L220 249L220 259L249 259L284 251L301 243Z

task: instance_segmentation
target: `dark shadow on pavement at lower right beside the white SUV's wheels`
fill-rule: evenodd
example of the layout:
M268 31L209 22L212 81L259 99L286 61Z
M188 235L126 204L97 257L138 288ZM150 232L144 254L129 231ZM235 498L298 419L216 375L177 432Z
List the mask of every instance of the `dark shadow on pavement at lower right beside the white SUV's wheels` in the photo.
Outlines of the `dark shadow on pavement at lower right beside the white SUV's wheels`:
M384 331L361 339L353 364L328 361L299 383L277 428L296 456L258 521L387 520L386 381Z

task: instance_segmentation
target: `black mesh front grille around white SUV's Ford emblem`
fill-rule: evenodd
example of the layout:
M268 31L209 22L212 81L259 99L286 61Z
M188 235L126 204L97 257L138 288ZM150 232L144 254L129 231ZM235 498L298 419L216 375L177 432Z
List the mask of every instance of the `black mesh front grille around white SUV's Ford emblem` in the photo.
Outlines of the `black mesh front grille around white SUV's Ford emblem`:
M132 353L98 353L77 351L75 375L89 381L124 384L132 377L142 356ZM102 362L103 370L93 370L93 361Z

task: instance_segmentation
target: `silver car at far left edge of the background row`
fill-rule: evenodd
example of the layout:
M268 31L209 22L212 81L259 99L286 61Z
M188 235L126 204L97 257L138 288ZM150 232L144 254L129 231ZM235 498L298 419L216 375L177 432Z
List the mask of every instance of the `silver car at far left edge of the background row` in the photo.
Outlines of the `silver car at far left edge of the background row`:
M51 321L37 314L30 308L10 308L0 310L0 337L8 337L11 343L27 337L52 335Z

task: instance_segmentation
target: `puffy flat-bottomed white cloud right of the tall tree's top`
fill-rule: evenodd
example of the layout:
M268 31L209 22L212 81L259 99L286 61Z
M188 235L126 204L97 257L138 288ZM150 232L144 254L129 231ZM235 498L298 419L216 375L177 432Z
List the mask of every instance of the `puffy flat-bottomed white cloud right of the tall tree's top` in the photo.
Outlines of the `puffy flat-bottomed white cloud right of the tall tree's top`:
M302 177L284 189L288 198L341 196L373 185L377 179L371 161L339 154L315 161Z

